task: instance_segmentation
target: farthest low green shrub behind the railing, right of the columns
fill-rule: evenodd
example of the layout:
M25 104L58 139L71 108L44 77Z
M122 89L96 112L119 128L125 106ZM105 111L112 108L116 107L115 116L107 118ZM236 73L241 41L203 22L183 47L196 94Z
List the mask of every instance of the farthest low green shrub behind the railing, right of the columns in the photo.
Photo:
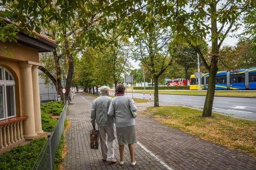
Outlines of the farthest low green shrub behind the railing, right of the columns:
M54 115L60 115L63 107L63 102L47 102L41 104L41 111L45 111L46 113L52 113Z

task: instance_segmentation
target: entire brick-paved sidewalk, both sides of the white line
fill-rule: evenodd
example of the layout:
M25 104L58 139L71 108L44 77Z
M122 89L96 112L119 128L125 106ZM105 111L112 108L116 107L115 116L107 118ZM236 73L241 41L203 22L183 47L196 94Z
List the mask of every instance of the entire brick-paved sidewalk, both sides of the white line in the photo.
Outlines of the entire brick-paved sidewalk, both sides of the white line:
M85 99L85 100L84 100ZM86 102L86 100L88 102ZM128 147L125 147L125 165L107 165L99 150L90 149L90 103L93 97L78 93L70 106L71 126L66 133L68 155L65 169L240 169L256 170L256 160L247 154L199 139L162 125L153 119L138 115L135 145L136 166L130 166ZM142 109L144 105L138 104ZM151 153L151 152L152 153ZM151 154L150 154L151 153ZM156 156L155 156L156 155ZM119 160L118 144L115 156Z

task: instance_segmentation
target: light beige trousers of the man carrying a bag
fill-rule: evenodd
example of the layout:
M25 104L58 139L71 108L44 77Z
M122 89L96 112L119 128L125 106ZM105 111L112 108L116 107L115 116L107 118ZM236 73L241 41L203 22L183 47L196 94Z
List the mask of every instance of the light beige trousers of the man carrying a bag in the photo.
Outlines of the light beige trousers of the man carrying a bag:
M114 160L115 125L98 127L100 133L100 147L104 160Z

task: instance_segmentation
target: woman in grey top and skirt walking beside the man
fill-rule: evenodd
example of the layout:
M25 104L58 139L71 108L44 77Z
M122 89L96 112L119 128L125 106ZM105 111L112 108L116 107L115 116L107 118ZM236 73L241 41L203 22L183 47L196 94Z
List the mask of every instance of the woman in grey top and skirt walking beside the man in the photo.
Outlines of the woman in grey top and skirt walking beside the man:
M124 164L124 145L128 144L131 165L134 166L134 143L136 143L135 119L132 111L137 111L137 107L130 96L124 95L125 87L122 84L116 86L116 97L112 98L108 109L108 115L115 117L116 135L120 152L120 165Z

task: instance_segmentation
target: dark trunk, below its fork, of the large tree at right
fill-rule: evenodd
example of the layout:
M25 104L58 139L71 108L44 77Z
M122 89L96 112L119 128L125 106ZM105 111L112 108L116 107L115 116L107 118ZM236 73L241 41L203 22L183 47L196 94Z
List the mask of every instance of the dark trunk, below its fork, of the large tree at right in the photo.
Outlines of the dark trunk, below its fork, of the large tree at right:
M211 68L209 72L208 78L208 90L204 102L204 109L203 109L203 117L211 117L212 116L212 105L214 100L214 93L215 93L215 78L217 69Z

